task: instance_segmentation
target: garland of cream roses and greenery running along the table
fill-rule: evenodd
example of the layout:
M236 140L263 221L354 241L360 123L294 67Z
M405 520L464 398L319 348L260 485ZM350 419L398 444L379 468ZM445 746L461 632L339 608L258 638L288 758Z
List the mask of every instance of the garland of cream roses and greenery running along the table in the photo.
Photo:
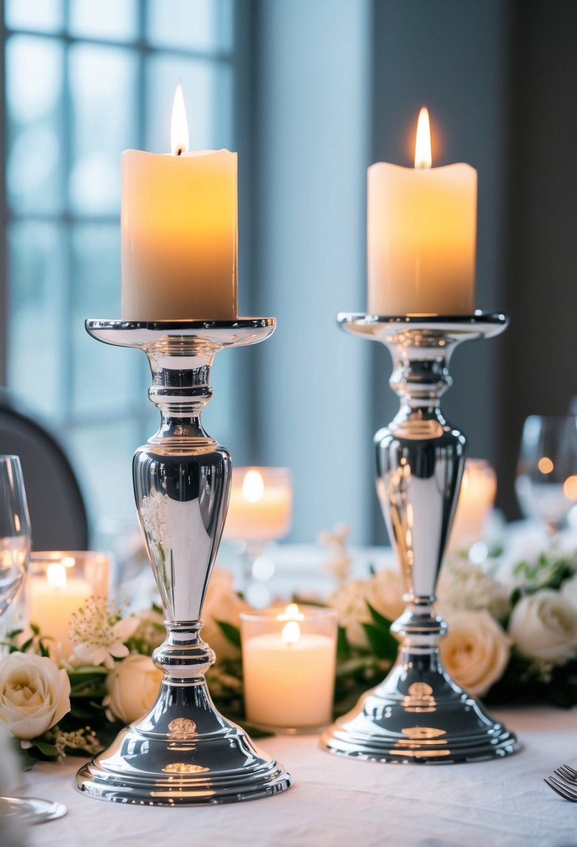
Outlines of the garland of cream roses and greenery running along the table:
M389 627L404 608L396 571L348 579L345 539L340 530L326 539L340 580L327 601L339 618L336 714L392 666L398 644ZM499 564L494 560L489 571L453 556L443 565L437 610L449 630L442 662L465 690L492 703L577 704L577 553L550 551L508 569ZM247 607L232 577L215 568L202 634L217 663L207 676L217 706L239 722L245 719L239 613ZM158 608L125 615L118 604L94 598L70 621L68 653L34 623L28 633L8 634L0 724L32 760L96 753L152 706L162 673L151 654L164 636Z

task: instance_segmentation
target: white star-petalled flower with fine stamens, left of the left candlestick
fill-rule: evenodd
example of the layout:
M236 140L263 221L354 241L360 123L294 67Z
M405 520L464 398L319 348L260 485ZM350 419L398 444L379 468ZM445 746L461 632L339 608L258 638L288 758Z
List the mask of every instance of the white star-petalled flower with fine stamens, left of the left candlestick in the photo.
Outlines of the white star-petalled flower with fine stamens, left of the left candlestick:
M74 658L85 664L114 667L114 659L129 655L124 642L135 633L139 623L134 615L120 617L118 606L108 607L90 598L70 622Z

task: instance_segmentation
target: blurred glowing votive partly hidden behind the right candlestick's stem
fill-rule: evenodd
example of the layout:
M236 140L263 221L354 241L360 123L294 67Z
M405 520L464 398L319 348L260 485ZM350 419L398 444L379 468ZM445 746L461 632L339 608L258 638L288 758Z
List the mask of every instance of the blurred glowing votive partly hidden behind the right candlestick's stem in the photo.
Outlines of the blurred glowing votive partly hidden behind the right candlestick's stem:
M483 459L467 459L449 549L458 551L485 534L486 521L497 494L497 475Z

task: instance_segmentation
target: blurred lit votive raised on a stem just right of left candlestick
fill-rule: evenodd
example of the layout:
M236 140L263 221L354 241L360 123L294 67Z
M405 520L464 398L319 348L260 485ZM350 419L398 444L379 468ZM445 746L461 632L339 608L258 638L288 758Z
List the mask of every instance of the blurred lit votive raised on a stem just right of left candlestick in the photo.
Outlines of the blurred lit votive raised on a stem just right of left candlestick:
M224 537L272 541L290 529L293 486L288 468L234 468Z

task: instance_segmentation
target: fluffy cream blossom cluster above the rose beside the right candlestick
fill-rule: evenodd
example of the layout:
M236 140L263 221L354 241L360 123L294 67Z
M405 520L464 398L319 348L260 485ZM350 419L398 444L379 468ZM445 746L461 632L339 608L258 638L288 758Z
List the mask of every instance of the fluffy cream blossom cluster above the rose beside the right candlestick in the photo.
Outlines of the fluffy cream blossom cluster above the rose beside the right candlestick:
M442 566L437 596L459 609L488 609L493 617L505 617L510 590L482 568L461 556L448 556Z

